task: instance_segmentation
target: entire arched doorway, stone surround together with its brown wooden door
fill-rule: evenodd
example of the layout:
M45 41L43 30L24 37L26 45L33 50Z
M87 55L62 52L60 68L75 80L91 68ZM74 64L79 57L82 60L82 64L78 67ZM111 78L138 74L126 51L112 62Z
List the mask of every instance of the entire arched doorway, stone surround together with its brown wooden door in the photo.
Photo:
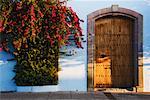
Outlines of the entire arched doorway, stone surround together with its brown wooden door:
M142 15L117 5L88 15L88 90L141 91ZM138 87L138 88L137 88Z

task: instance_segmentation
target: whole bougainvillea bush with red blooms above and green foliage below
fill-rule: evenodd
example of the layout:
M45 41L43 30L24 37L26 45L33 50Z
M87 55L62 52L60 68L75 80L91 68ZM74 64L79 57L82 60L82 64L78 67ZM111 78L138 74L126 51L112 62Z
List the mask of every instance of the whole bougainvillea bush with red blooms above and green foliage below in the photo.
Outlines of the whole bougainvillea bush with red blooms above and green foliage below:
M82 48L83 20L65 2L21 0L1 5L1 46L15 55L17 85L57 84L59 47L68 44L73 34L77 47Z

